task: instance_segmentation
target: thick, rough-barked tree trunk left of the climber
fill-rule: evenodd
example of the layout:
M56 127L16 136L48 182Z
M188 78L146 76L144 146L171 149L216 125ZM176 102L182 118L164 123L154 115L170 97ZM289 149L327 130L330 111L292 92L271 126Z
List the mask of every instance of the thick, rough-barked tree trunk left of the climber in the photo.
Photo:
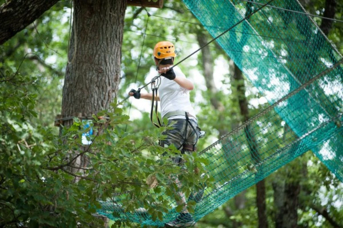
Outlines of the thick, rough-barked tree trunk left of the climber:
M110 108L120 79L125 10L126 0L74 0L63 117L90 117ZM70 124L64 122L64 126ZM80 156L73 165L84 167L87 158Z

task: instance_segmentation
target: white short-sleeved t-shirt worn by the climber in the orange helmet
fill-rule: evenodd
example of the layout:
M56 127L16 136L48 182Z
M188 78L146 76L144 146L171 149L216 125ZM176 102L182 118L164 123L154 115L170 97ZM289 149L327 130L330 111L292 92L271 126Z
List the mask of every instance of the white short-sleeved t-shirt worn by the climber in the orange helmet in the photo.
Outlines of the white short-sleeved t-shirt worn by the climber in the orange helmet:
M178 66L173 68L177 78L186 78L184 73ZM182 88L174 80L169 80L161 77L161 85L159 86L159 99L161 101L161 116L162 118L171 111L186 111L190 115L196 117L189 98L189 90ZM171 116L170 119L186 119L185 116ZM194 118L190 118L194 119ZM196 120L196 119L194 119Z

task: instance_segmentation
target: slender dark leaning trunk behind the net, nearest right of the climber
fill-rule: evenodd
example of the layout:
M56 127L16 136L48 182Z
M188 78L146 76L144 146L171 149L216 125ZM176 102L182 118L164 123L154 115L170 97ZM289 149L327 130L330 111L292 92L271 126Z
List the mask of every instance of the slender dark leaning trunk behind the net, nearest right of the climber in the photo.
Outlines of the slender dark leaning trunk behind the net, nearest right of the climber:
M243 121L247 121L249 119L249 109L248 109L248 100L245 96L245 85L243 79L242 71L237 67L234 66L234 80L236 81L237 85L237 97L238 97L238 104L241 116ZM251 153L251 157L255 162L259 162L259 155L258 150L256 148L256 140L250 126L247 125L245 128L246 138L248 140L248 145ZM267 219L267 206L265 203L265 182L261 180L256 184L256 204L257 204L257 211L258 211L258 227L259 228L267 228L268 227L268 219Z

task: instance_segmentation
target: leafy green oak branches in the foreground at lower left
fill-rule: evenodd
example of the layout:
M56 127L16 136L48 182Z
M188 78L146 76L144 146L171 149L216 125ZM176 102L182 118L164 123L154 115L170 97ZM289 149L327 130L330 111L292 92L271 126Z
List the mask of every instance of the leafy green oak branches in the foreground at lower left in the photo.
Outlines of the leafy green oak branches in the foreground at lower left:
M171 193L178 187L169 177L179 173L187 195L201 183L199 172L193 171L198 167L204 172L201 160L188 156L186 170L181 172L181 166L169 159L177 152L175 147L165 150L156 144L164 129L129 134L123 131L124 124L130 124L128 116L116 105L111 111L98 113L98 117L109 117L106 123L94 116L94 134L88 136L92 143L84 148L82 134L89 129L82 121L75 119L70 128L63 128L61 137L52 135L50 128L34 128L31 120L37 116L33 110L37 94L28 88L35 81L14 73L7 73L1 81L0 156L7 164L0 168L1 225L74 227L78 223L87 227L98 223L92 217L99 208L98 200L109 200L118 192L127 192L121 202L126 211L144 202L146 208L154 204L149 213L161 218L170 206L166 199L149 192L158 193L164 186L173 197ZM87 157L88 166L70 172L80 156Z

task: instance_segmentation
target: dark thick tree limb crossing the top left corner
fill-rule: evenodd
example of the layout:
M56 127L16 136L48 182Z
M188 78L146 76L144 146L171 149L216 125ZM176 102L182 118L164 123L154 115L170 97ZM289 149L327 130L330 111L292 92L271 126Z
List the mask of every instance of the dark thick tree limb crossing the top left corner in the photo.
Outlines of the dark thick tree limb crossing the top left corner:
M0 6L0 45L35 21L59 0L16 0Z

